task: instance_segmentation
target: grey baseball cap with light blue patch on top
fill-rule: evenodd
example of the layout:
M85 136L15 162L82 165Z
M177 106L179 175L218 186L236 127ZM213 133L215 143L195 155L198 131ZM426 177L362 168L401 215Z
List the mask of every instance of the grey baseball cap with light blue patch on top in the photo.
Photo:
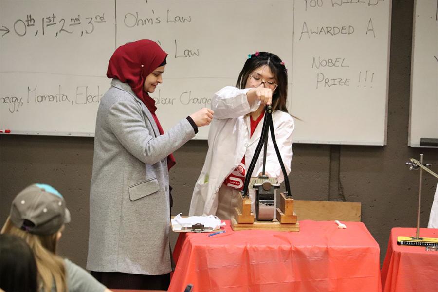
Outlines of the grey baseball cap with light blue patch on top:
M29 233L51 235L70 222L70 211L55 188L35 183L12 201L10 219L15 226Z

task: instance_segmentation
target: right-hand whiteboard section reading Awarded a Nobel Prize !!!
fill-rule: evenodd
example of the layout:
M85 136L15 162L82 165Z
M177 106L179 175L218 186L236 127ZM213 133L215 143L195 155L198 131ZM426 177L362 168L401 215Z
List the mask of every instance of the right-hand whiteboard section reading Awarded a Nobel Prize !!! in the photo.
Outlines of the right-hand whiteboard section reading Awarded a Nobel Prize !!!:
M295 142L386 144L390 15L390 1L295 1Z

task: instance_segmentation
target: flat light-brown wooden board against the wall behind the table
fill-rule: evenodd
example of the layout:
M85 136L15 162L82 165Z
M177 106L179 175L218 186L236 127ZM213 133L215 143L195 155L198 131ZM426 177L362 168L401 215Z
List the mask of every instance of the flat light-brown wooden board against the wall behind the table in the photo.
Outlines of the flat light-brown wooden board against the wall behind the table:
M358 202L294 201L294 211L299 220L361 221L361 203Z

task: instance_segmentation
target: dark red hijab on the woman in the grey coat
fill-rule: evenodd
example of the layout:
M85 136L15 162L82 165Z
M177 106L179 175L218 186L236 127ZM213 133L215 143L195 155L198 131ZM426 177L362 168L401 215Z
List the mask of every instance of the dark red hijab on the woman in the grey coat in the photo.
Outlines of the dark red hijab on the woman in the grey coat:
M157 69L166 56L167 53L154 41L148 39L134 41L115 50L110 58L107 71L108 78L116 78L129 84L138 99L152 114L161 135L164 131L155 114L157 110L155 100L149 96L148 92L143 91L143 84L147 75ZM173 165L175 165L175 158L171 153L167 156L167 169Z

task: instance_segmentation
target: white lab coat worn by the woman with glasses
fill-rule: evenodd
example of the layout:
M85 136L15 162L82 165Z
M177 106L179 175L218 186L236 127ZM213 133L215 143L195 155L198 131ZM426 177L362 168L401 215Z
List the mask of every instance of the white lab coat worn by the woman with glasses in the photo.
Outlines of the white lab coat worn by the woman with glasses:
M218 208L218 191L225 178L236 168L245 155L248 168L260 139L263 120L257 125L250 138L250 112L256 111L260 101L248 103L246 93L250 89L237 89L232 86L215 93L211 101L214 118L208 133L208 151L201 175L193 190L189 215L215 215ZM291 171L293 118L281 110L272 113L274 133L286 172ZM263 168L263 151L260 152L252 176L257 176ZM266 173L284 181L283 173L275 153L269 133L266 155ZM252 197L254 192L250 192ZM254 198L253 198L254 201Z

